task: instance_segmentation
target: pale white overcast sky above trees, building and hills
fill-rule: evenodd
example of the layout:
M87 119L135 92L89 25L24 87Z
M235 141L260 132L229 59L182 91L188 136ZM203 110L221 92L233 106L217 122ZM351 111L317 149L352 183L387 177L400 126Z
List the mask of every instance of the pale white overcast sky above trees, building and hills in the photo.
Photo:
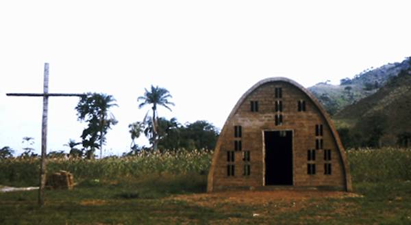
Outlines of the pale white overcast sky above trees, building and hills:
M366 68L411 56L411 1L0 1L0 148L40 153L42 98L9 92L112 94L119 123L104 155L121 155L128 124L142 120L138 96L171 92L179 122L221 129L238 99L267 77L308 88L338 84ZM48 152L69 150L86 126L79 98L49 99ZM138 144L148 144L144 137Z

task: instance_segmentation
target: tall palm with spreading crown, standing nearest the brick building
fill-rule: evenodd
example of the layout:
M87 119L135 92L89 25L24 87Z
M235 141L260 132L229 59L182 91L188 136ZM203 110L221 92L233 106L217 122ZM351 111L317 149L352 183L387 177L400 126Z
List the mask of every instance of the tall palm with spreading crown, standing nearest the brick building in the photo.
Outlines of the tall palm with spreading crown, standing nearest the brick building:
M171 103L169 101L169 98L173 98L173 96L171 96L168 90L166 90L165 88L159 88L158 86L154 87L153 85L151 85L151 91L145 89L144 95L137 98L137 101L142 101L142 103L138 105L140 109L145 105L151 105L151 110L153 111L153 117L151 118L153 124L153 129L151 130L153 150L157 150L158 144L157 106L161 105L162 107L165 107L166 109L172 111L169 105L174 105L174 103Z

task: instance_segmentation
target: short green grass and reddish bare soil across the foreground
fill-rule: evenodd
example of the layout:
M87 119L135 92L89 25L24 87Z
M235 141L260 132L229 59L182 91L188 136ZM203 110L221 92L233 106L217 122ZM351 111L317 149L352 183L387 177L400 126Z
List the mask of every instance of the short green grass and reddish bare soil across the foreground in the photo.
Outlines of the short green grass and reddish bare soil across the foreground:
M411 182L316 190L173 191L125 183L0 194L0 224L411 224ZM169 190L169 193L167 193ZM173 193L174 192L174 193ZM201 193L202 192L202 193Z

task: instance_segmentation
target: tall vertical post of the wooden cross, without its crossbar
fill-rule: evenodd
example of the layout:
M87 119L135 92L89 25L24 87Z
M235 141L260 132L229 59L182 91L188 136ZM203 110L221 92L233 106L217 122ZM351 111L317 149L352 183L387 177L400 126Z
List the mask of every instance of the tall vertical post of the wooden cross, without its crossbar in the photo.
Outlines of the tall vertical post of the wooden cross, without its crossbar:
M47 166L47 114L49 111L49 64L45 63L45 79L43 83L43 111L41 129L41 164L40 187L38 189L38 204L45 204L46 166Z

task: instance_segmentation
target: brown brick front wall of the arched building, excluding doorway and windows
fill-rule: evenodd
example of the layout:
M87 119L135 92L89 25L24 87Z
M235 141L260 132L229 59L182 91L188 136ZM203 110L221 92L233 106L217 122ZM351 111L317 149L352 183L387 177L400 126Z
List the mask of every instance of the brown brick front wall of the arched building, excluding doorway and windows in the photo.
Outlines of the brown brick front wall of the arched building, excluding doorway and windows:
M275 88L282 88L282 98L275 98ZM258 111L251 111L251 101L258 101ZM282 101L282 112L276 112L275 101ZM305 111L298 110L299 101L305 102ZM282 114L282 124L275 124L276 114ZM316 125L321 124L323 133L320 136L316 134ZM235 126L241 127L241 137L235 137ZM264 186L264 131L284 130L292 131L293 186L350 189L347 187L345 153L338 145L339 140L334 138L333 129L323 115L323 109L306 94L306 90L282 79L262 82L240 99L225 122L214 151L208 190ZM323 140L321 149L316 149L316 139ZM235 150L235 141L241 141L241 150ZM316 165L315 174L308 174L308 150L315 150L316 159L310 161ZM330 161L324 158L325 150L331 151ZM227 160L227 151L234 151L234 161ZM243 159L245 151L249 151L249 161ZM331 174L325 174L325 163L331 163ZM245 171L246 164L250 168L249 174ZM227 171L228 165L234 165L234 176L229 176L232 172Z

